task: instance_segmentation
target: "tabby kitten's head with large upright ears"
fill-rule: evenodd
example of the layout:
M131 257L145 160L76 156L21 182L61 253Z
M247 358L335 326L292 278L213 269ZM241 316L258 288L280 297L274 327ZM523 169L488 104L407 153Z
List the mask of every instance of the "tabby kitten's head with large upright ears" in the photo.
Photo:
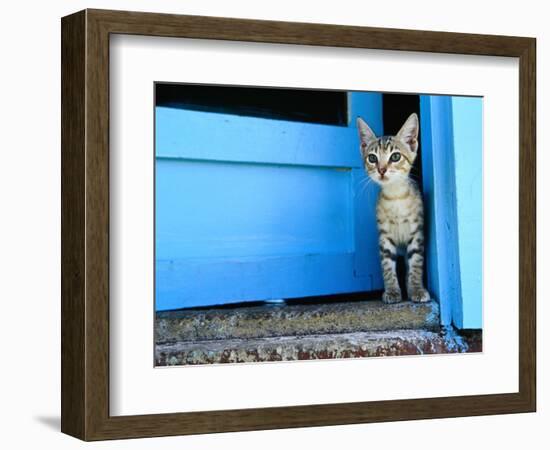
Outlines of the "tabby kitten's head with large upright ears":
M409 177L418 150L418 116L411 114L395 136L376 137L366 122L357 118L361 156L365 170L381 186Z

